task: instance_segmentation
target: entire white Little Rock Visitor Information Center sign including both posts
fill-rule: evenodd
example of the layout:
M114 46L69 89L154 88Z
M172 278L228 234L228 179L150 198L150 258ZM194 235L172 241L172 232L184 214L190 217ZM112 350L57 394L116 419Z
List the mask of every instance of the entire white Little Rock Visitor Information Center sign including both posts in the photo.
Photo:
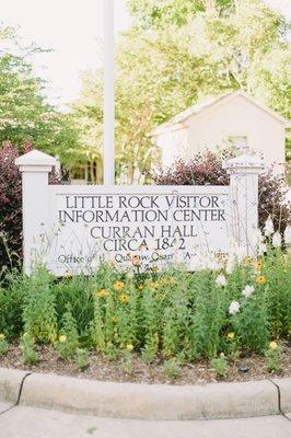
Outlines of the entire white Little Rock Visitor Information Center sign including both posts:
M56 275L90 273L102 262L141 268L226 253L230 240L255 251L261 163L230 160L229 186L48 185L55 159L32 151L23 175L24 270L45 264Z

